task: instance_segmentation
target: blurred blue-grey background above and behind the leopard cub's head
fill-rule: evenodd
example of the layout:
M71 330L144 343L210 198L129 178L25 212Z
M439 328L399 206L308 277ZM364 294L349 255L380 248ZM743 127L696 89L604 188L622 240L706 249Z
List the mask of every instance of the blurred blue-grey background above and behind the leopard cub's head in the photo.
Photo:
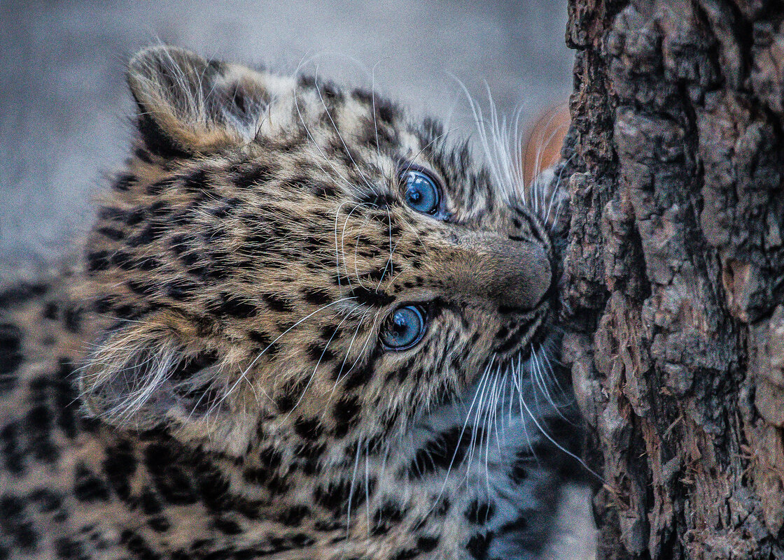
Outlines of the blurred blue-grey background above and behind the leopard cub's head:
M565 0L0 0L0 259L51 259L89 226L89 200L122 162L125 60L169 42L292 73L371 85L417 113L471 120L455 78L525 120L567 98ZM453 78L454 76L454 78ZM462 121L461 121L462 120Z

